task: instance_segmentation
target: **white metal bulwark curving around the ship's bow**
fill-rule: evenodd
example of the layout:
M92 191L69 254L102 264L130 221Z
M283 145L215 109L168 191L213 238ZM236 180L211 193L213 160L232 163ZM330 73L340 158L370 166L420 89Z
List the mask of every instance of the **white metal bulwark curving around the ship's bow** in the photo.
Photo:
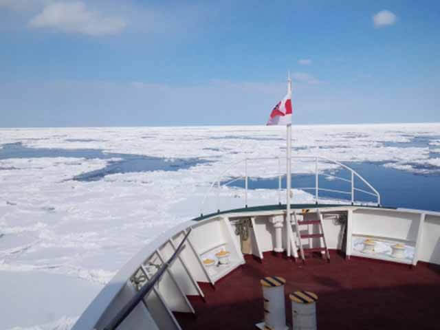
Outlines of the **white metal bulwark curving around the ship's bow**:
M342 246L346 246L347 256L363 256L397 263L403 262L409 265L417 265L419 261L440 264L440 212L364 206L327 208L320 206L319 210L323 215L322 225L326 232L327 244L330 249L341 249ZM298 212L298 210L296 211ZM316 216L316 211L316 208L310 208L308 214L315 213ZM295 212L295 209L292 212ZM170 239L175 244L178 244L184 235L184 231L187 228L193 228L186 248L181 252L180 258L176 261L175 265L170 268L175 281L168 274L168 280L162 279L161 281L164 282L159 283L157 286L155 296L151 294L151 297L148 297L146 300L147 306L152 306L151 312L148 312L144 306L140 305L135 309L135 314L129 318L133 322L141 324L142 327L147 327L153 320L155 325L159 326L159 329L166 329L163 325L168 324L171 326L174 324L173 319L168 313L168 310L172 310L174 307L172 303L167 301L166 297L168 297L168 300L180 297L175 301L181 302L183 304L181 306L186 305L186 310L191 312L191 308L187 305L184 295L202 295L203 292L201 292L197 282L214 284L245 262L239 240L237 240L234 234L230 221L243 218L252 219L252 232L258 247L256 248L256 255L263 258L264 252L273 251L275 247L276 234L270 219L273 217L281 217L282 219L284 214L285 210L252 210L252 208L249 208L240 212L231 210L221 215L214 214L212 217L200 221L187 221L177 225L146 245L131 261L122 267L79 318L73 330L91 330L94 327L101 330L106 322L124 305L124 302L128 301L135 294L135 289L131 285L129 278L140 269L140 265L148 261L153 254L156 254L156 250L162 254L162 259L165 259L166 256L173 252L173 245L170 243ZM338 214L346 214L347 221L345 223L337 221ZM283 236L286 234L286 229L286 226L284 226ZM343 244L345 239L344 230L347 230L346 244ZM362 252L355 250L354 246L355 240L359 237L371 238L388 244L404 243L413 249L414 255L407 262L406 259L387 255L362 254ZM216 249L219 248L224 248L230 252L231 262L229 265L216 267L215 274L208 275L201 263L201 257L206 254L214 254L217 251ZM174 283L174 291L166 289L166 285L163 285L166 281ZM177 288L175 282L179 283L180 289ZM156 298L154 299L154 297ZM129 322L131 322L129 319L126 321L126 326L120 327L121 330L131 329L129 327Z

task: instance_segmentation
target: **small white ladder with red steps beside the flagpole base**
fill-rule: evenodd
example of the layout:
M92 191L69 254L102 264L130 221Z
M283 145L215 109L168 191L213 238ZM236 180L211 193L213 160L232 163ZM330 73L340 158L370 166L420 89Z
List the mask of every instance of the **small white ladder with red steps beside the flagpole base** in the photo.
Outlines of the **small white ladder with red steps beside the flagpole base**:
M330 254L329 249L327 248L327 242L325 241L325 234L324 234L324 228L322 227L322 213L319 211L319 209L316 209L316 214L318 216L317 220L303 220L298 221L297 215L304 215L307 214L309 210L303 210L302 214L298 214L294 212L294 225L296 230L296 236L298 237L298 245L300 250L300 257L303 259L303 263L305 263L305 252L321 252L325 254L327 261L330 261ZM320 232L317 234L301 234L300 225L319 225ZM324 246L320 248L303 248L303 241L302 239L315 239L315 238L322 238L322 243Z

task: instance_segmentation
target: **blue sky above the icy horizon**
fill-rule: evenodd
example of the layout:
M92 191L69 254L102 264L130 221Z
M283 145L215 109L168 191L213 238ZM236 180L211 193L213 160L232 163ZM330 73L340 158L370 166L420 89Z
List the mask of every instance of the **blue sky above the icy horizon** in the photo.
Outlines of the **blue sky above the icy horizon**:
M440 121L439 1L0 0L0 126Z

